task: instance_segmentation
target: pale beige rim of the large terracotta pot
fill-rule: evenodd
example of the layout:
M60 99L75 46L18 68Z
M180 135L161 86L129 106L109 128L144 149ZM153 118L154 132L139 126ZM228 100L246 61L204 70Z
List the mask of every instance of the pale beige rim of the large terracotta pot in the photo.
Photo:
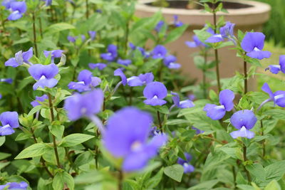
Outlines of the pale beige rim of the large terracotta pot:
M175 14L175 15L195 15L195 16L205 16L209 13L202 13L198 9L175 9L175 8L160 8L155 6L149 6L147 3L152 3L155 0L139 0L136 5L137 10L143 10L147 12L162 11L162 14ZM234 2L240 4L247 4L250 7L240 8L240 9L227 9L229 14L218 12L217 16L227 16L227 15L253 15L253 14L267 14L271 10L269 4L257 2L257 1L245 1L245 0L225 0L227 2Z

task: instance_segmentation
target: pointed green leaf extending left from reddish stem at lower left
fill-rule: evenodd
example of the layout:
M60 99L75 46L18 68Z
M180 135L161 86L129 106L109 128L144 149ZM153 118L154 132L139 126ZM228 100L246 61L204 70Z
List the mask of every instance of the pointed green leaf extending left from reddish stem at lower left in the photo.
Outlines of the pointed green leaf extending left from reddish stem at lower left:
M22 150L20 154L15 157L15 159L39 157L43 155L47 149L48 146L46 146L46 144L44 144L43 142L32 144L30 147L27 147L26 149Z

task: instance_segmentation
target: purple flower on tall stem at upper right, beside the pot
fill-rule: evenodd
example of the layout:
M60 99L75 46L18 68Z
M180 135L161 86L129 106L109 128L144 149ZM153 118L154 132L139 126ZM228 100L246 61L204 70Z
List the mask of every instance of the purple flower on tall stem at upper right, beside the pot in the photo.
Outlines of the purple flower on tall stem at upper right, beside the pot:
M265 36L261 32L248 32L242 39L242 49L247 52L251 58L263 59L269 58L269 51L262 51L264 47Z

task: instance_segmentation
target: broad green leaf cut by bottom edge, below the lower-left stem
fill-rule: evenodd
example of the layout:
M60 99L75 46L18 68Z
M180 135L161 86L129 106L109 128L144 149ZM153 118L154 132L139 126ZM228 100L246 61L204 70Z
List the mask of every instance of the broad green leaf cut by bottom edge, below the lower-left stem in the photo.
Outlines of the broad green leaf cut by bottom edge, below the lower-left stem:
M53 178L53 189L74 189L73 177L66 171L58 172Z

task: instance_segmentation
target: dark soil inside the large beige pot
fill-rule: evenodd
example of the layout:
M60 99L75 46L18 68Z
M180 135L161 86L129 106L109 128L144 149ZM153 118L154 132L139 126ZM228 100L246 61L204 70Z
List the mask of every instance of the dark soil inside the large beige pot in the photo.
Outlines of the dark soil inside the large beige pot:
M167 0L167 4L169 8L173 9L190 9L190 3L191 1L185 1L185 0ZM244 8L249 8L252 7L251 5L248 4L240 4L240 3L234 3L234 2L227 2L223 1L223 8L224 9L244 9ZM192 2L192 6L195 4ZM147 3L148 6L155 6L153 3ZM216 4L215 6L217 6ZM210 7L212 7L212 4L209 4ZM204 9L203 6L199 4L195 4L195 9Z

